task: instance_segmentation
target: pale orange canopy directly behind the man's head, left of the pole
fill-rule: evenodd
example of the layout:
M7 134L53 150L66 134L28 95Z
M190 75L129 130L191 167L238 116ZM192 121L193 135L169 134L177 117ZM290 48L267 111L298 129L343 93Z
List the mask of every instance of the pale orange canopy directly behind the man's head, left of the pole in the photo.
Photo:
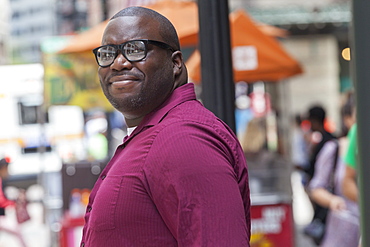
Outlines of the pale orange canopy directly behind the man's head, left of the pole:
M195 2L162 0L146 6L166 16L175 26L181 46L198 43L198 6ZM92 50L100 46L108 20L74 36L59 53L73 53Z

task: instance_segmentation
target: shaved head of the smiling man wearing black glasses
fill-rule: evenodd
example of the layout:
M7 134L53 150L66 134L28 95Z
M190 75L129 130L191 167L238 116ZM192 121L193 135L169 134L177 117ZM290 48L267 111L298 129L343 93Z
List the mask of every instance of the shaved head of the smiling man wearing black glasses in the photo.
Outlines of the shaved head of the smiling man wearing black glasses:
M139 47L141 50L127 51L144 54L142 59L131 61L126 57L122 46L133 41L148 42ZM161 43L172 49L158 45ZM153 10L129 7L118 12L104 30L102 45L115 49L115 53L110 65L99 67L100 84L107 99L125 116L128 126L137 126L173 90L187 83L176 30Z

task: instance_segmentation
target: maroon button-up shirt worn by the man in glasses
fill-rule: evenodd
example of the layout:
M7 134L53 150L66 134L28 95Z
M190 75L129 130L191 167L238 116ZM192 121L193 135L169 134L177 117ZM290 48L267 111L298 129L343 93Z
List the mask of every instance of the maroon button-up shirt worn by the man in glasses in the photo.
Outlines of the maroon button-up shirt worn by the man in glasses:
M177 88L118 146L96 182L81 246L249 246L250 199L234 133Z

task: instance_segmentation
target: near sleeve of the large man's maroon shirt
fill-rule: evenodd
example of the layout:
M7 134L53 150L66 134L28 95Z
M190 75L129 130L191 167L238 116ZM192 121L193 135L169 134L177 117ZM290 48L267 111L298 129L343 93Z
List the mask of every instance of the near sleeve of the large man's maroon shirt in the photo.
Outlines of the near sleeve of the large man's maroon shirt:
M201 131L169 128L157 136L146 177L178 246L249 246L249 190L243 195L240 185L247 186L246 166L235 171L232 159L226 142Z

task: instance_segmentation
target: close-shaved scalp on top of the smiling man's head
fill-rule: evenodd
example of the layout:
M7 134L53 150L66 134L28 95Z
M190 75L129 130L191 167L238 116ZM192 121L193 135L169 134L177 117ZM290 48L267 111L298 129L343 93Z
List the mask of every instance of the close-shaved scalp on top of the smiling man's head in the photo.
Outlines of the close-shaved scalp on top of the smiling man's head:
M110 20L122 16L143 17L150 21L156 21L159 24L159 34L163 40L173 47L175 50L180 50L180 42L177 32L172 23L158 12L139 6L128 7L116 13Z

